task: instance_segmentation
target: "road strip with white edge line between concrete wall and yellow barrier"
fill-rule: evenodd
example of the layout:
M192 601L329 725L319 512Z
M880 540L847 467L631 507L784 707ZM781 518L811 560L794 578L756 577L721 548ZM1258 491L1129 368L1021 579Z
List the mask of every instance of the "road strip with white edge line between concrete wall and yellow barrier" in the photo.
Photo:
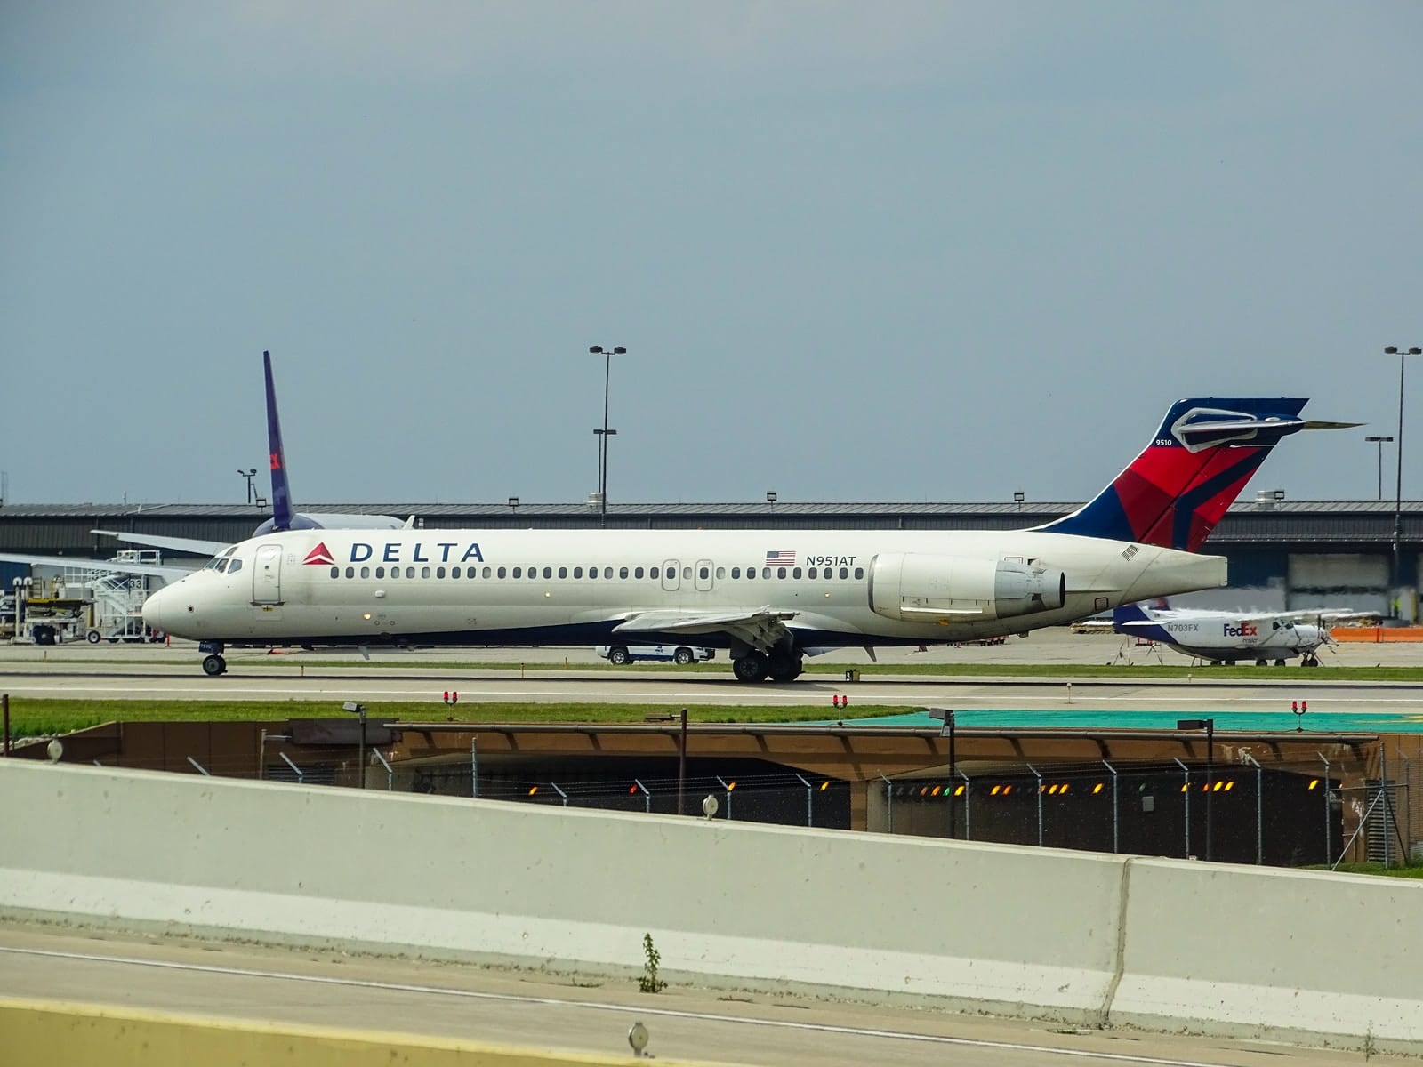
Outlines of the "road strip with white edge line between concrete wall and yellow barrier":
M596 982L596 980L595 980ZM633 979L492 970L0 925L0 989L179 1014L391 1030L618 1056L640 1020L663 1060L800 1067L1322 1067L1340 1051L884 1009Z

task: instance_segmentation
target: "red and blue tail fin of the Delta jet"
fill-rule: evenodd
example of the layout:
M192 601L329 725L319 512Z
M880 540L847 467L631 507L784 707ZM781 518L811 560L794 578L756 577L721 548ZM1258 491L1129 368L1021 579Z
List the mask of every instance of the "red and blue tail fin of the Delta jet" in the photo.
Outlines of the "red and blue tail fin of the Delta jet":
M1191 398L1167 411L1131 465L1084 506L1036 529L1194 552L1308 400Z

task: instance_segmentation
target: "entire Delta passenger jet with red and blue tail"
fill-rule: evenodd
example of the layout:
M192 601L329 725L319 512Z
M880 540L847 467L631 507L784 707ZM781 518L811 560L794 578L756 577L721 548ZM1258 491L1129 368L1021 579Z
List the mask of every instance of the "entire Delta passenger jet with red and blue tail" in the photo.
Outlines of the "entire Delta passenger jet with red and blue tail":
M144 620L228 644L696 644L743 681L804 656L1027 633L1225 585L1197 549L1284 437L1299 398L1174 404L1072 515L1019 531L286 529L154 593Z

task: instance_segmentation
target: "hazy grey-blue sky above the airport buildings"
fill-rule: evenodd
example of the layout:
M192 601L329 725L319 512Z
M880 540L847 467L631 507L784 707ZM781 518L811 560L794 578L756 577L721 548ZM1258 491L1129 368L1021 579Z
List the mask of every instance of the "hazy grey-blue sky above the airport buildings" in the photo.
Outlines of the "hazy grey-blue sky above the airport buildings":
M1249 394L1369 423L1251 489L1373 498L1420 54L1413 0L6 3L9 499L245 499L270 349L297 504L578 501L591 344L613 502L1084 499Z

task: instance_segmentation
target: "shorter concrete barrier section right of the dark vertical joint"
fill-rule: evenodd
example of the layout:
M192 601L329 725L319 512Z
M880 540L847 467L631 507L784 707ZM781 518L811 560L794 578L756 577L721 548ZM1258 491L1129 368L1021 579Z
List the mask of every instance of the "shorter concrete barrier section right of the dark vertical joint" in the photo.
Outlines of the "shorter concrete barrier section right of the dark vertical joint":
M1113 1021L1423 1046L1423 885L1178 859L1128 885Z

